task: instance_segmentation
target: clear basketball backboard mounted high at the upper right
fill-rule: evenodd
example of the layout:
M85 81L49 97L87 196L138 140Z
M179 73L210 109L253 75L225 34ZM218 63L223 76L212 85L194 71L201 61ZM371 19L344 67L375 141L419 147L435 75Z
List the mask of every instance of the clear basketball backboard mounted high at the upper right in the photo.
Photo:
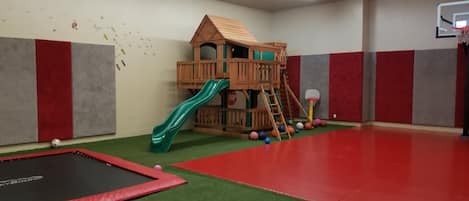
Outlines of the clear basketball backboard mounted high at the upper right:
M469 1L438 4L436 20L437 38L457 36L459 34L457 28L469 25Z

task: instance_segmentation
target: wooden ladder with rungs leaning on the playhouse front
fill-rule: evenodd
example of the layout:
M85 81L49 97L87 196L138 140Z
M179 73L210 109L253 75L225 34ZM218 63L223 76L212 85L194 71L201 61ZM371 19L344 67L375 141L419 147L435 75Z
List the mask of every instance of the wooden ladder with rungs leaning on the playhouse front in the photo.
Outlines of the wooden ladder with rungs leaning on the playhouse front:
M277 135L277 139L279 141L282 140L282 135L287 135L288 139L291 138L291 133L288 131L288 125L285 121L285 117L283 116L282 108L280 107L280 103L278 101L278 97L275 94L274 87L270 87L270 89L265 90L264 86L261 85L261 92L262 92L262 99L264 100L264 106L269 113L270 121L272 123L273 131L275 131ZM278 124L283 125L285 128L285 132L279 132Z

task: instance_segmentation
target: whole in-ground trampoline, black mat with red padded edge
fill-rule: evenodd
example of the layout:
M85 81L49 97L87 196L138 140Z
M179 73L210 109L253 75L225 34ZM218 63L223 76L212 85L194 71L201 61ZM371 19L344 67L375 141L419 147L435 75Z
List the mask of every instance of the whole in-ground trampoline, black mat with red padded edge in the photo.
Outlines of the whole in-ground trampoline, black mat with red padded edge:
M0 157L0 200L128 200L185 180L84 149Z

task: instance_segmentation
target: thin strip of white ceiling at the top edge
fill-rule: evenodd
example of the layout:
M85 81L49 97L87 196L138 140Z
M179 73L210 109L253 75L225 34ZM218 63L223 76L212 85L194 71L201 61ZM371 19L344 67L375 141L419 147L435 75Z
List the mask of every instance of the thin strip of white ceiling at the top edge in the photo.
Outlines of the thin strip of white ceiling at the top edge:
M267 11L279 11L290 8L309 6L316 3L331 2L337 0L220 0L233 4L238 4L250 8L257 8Z

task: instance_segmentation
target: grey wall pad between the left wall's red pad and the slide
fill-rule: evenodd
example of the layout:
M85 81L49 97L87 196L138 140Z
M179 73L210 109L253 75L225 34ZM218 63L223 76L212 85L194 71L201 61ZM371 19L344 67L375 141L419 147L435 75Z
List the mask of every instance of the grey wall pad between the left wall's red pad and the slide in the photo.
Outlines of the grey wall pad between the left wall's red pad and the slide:
M75 137L116 131L114 47L72 45Z

